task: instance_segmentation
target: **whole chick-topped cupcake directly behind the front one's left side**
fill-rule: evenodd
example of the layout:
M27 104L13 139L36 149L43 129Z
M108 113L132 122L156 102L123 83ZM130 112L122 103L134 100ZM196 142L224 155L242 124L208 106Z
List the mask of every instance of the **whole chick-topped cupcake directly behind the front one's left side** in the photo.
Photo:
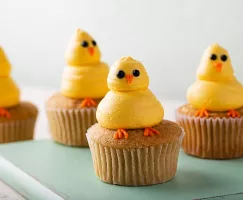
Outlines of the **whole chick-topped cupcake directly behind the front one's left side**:
M87 129L97 122L96 107L108 92L109 68L100 61L96 41L78 29L66 51L61 91L46 102L54 141L71 146L88 146Z

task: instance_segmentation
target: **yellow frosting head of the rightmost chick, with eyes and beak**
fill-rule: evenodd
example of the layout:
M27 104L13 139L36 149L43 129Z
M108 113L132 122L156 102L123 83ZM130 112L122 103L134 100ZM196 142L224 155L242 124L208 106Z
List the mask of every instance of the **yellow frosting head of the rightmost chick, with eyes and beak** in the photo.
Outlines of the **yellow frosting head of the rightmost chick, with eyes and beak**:
M211 81L234 78L234 71L228 51L218 44L209 46L202 56L197 70L197 77L201 80Z

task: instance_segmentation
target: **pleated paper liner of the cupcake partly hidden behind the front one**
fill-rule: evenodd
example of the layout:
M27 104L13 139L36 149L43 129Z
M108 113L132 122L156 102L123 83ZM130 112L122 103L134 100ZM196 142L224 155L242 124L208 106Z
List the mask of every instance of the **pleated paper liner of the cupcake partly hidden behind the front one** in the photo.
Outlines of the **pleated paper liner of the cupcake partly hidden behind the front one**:
M47 109L54 141L70 146L88 146L86 132L97 122L96 108Z

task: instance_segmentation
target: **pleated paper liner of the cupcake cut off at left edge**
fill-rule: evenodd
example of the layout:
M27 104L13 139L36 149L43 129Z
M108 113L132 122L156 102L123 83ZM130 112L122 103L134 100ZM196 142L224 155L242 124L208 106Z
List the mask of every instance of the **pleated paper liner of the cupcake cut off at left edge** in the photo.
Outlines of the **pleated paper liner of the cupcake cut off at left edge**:
M36 118L0 123L0 143L32 140Z

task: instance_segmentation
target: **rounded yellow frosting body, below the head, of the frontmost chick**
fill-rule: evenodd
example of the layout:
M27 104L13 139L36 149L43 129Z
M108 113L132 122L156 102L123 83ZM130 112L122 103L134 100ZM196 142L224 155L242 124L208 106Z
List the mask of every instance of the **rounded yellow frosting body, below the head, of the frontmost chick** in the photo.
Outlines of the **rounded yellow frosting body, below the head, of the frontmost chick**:
M98 122L109 129L152 127L163 119L163 108L149 89L109 91L99 104Z

